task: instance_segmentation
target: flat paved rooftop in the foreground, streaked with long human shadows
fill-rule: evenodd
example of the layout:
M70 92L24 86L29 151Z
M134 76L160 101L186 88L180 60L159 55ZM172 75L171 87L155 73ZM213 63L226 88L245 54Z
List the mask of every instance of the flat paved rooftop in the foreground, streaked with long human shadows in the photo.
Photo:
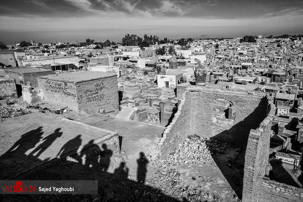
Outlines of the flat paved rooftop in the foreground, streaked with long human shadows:
M49 161L80 154L90 140L115 132L55 114L34 113L0 122L0 179L7 180Z

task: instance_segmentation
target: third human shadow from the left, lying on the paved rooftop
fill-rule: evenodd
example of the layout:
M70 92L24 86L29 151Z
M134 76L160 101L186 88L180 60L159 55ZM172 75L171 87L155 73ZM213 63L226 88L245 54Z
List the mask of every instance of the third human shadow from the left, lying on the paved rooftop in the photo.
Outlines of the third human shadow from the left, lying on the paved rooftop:
M74 158L77 155L77 151L81 146L81 143L81 135L77 135L75 138L70 139L61 147L56 157L64 160L67 160L66 157L68 156Z

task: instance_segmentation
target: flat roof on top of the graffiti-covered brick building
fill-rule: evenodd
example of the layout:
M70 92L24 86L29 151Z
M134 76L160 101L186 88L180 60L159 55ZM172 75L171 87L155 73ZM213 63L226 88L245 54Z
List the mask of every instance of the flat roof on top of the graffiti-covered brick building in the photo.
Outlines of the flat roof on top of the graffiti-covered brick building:
M38 78L41 79L48 79L53 81L61 81L67 83L81 83L85 81L92 81L101 78L108 78L108 77L117 77L116 74L110 72L103 72L103 71L76 71L76 72L69 72L64 74L55 74L55 75L47 75L41 76Z

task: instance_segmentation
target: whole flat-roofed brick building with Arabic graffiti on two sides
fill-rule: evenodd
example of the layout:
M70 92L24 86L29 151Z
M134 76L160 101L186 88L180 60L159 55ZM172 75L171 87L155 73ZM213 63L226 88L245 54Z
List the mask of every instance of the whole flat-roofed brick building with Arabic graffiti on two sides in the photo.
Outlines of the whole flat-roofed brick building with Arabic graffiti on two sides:
M38 78L45 101L88 114L119 109L118 81L109 72L71 72Z

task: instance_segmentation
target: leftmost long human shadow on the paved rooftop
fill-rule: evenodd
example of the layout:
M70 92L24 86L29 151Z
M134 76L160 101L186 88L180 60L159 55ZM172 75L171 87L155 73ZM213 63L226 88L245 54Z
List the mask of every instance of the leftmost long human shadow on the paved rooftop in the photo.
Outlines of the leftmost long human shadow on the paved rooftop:
M41 140L42 134L42 127L38 127L21 135L11 148L0 156L0 179L14 176L19 172L19 169L25 169L32 166L35 161L40 161L35 157L27 156L25 152L36 146Z

